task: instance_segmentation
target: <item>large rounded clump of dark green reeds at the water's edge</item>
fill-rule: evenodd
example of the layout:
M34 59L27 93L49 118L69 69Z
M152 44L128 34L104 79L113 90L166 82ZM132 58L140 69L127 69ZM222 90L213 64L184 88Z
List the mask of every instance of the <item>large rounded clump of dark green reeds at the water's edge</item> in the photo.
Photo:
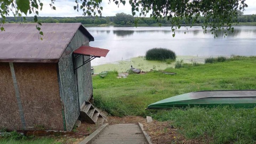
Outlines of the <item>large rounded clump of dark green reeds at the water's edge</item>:
M153 48L146 52L146 60L175 60L176 54L165 48Z

